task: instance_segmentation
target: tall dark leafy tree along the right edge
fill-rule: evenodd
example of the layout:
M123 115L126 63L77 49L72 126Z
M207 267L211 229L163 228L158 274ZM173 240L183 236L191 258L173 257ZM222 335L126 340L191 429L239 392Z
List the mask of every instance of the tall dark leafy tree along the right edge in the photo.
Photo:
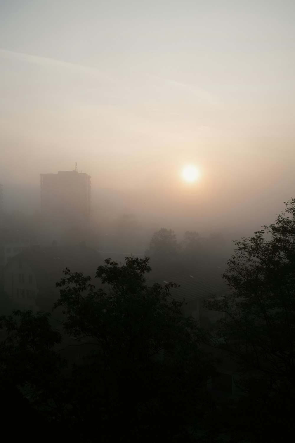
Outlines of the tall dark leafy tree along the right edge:
M238 365L247 395L234 420L236 435L251 442L295 431L295 199L286 206L275 223L234 242L223 274L231 291L205 302L225 313L215 338Z

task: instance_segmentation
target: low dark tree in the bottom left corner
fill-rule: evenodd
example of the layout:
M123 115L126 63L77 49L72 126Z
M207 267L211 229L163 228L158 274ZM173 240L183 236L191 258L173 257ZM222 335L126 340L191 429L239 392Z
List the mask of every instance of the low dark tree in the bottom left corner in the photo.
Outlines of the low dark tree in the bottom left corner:
M49 421L54 428L54 418L61 420L64 415L60 377L66 361L54 350L61 343L61 334L52 330L49 314L33 315L31 311L2 315L0 329L2 419L10 421L12 411L19 413L18 425L27 426L27 420L34 420L30 435L40 436ZM18 435L17 429L14 435Z

